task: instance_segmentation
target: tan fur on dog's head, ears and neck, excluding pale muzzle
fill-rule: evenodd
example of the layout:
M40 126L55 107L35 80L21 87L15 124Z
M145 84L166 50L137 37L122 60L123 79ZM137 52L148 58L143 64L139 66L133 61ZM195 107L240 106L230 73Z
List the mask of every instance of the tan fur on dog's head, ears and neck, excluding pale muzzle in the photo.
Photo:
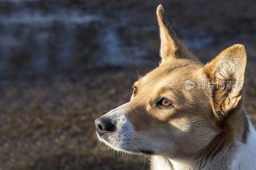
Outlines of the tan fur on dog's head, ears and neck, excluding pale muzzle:
M188 91L184 88L184 85L186 80L191 80L195 83L202 81L214 81L217 83L217 81L222 80L225 82L228 80L244 81L246 65L244 46L237 44L227 48L212 62L207 63L206 66L196 61L179 59L182 58L180 56L189 59L195 58L188 52L188 49L180 42L169 26L161 5L158 6L156 12L160 26L162 62L159 67L134 84L138 87L138 92L135 96L132 95L131 101L136 102L132 102L133 104L129 105L129 110L131 111L127 113L135 129L147 131L147 129L155 128L154 125L157 124L158 129L155 129L155 131L158 133L158 131L162 130L161 127L166 128L169 126L170 129L173 127L186 129L195 128L196 126L195 129L191 129L188 134L183 136L183 140L190 142L190 146L186 148L186 145L182 143L177 147L182 148L182 151L179 152L184 152L183 156L191 153L194 147L196 151L201 152L200 154L194 153L194 156L196 156L196 154L201 155L204 152L210 154L208 152L218 149L218 147L210 149L210 147L216 147L216 144L213 143L219 143L222 140L222 145L227 146L234 138L242 141L244 130L240 128L244 123L243 113L241 113L243 110L242 102L238 105L242 96L241 91L234 89L229 91L225 89L215 90L216 85L214 90L211 88L196 89L195 87ZM158 96L168 97L173 102L174 107L165 110L157 109L154 106L154 100ZM134 106L138 104L139 106ZM232 110L235 107L237 107L236 110ZM232 111L228 119L220 117L220 115L227 114L230 110ZM152 124L153 127L148 127L149 124ZM209 127L209 131L203 128L205 125ZM204 137L204 134L208 133L212 134L212 136L217 136L213 139L211 136L209 138L205 137L204 141L194 139L194 137L198 136ZM193 142L195 142L194 146L192 146ZM180 143L177 141L177 144L179 145ZM198 145L205 147L207 144L209 146L206 151L202 152L200 150L202 148ZM225 149L225 147L221 149Z

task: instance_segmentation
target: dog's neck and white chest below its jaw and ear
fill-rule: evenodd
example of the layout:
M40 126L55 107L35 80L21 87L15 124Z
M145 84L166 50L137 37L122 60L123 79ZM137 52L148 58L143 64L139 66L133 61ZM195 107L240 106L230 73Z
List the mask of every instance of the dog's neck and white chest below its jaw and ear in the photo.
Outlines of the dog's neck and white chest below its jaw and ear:
M217 138L215 145L210 144L214 146L210 152L206 149L193 158L173 159L168 156L153 156L152 169L253 169L256 166L256 131L248 116L246 114L245 116L248 121L245 141L243 135L241 141L234 140L229 143L225 138Z

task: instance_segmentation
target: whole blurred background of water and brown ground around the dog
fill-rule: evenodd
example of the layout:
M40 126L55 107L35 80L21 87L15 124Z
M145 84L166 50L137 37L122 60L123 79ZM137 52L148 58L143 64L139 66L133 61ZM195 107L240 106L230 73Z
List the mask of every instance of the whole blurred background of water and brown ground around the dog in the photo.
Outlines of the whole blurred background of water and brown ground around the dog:
M204 63L245 45L255 127L256 1L0 0L0 169L150 168L97 144L94 119L158 65L160 3Z

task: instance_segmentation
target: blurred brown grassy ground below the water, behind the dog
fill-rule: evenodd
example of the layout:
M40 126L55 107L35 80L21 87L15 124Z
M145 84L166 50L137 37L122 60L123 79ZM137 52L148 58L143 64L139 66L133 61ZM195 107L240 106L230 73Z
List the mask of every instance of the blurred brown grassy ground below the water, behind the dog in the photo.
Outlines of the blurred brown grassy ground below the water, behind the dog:
M245 105L256 125L256 69L246 69ZM149 67L138 67L146 73ZM129 73L131 72L131 73ZM95 141L94 119L129 100L134 69L79 70L1 83L1 169L142 169L145 158L117 155ZM137 74L137 73L136 73ZM144 169L149 160L146 159Z

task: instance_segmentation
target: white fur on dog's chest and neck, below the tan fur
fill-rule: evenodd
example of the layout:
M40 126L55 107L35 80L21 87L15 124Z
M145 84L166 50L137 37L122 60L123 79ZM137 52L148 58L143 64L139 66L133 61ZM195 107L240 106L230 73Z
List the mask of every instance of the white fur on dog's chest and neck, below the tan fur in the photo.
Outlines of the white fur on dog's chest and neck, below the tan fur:
M212 160L204 169L223 169L224 167L224 169L239 170L256 169L256 131L251 123L249 126L250 133L245 144L236 143L235 147L227 150L219 159ZM196 169L194 165L195 162L192 163L186 160L173 160L160 155L152 156L153 170Z

